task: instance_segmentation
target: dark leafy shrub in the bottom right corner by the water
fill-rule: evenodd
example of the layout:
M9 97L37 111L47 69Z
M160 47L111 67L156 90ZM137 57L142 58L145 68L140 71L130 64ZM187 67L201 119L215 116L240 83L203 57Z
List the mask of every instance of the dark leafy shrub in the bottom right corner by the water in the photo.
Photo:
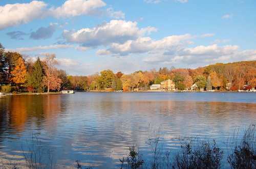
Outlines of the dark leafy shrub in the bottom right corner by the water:
M250 125L241 140L237 137L231 142L232 154L227 161L232 168L256 168L255 125Z

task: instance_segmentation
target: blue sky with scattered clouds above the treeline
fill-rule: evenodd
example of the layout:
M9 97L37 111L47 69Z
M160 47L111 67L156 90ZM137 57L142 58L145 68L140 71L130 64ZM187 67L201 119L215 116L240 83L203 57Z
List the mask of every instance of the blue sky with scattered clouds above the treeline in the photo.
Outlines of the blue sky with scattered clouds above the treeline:
M0 43L71 75L256 60L255 0L1 0Z

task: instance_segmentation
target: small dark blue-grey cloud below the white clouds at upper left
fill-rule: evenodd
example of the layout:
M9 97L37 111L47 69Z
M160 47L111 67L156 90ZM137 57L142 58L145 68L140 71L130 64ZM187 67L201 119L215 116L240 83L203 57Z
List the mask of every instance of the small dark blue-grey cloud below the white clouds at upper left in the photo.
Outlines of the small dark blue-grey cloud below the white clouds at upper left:
M56 24L51 23L48 27L40 27L35 32L30 34L31 39L48 39L51 38L53 33L55 32Z

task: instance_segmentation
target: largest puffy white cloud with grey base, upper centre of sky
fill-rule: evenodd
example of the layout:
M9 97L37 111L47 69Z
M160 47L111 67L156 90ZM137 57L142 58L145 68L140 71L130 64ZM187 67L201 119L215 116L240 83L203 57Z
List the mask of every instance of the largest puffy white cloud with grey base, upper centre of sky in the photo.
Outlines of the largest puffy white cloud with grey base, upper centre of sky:
M67 42L80 43L82 46L109 45L111 43L124 43L127 40L152 32L153 27L139 29L137 22L125 20L111 20L93 28L84 28L78 31L65 30L62 33Z

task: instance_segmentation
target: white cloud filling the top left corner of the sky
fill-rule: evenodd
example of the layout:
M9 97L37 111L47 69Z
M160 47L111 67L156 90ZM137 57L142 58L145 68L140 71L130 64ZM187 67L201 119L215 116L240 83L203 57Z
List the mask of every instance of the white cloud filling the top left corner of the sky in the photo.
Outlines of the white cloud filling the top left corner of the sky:
M40 1L0 6L0 30L40 18L46 6L44 2Z

